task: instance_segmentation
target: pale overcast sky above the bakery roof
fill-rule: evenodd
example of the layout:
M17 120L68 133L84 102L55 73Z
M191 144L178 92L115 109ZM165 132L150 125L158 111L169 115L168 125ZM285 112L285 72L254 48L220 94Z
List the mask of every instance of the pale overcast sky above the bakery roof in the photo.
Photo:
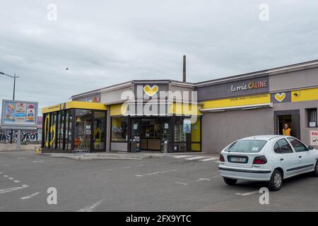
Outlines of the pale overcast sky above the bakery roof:
M317 0L2 0L0 71L20 76L17 100L44 107L132 79L182 80L183 54L189 82L269 69L318 59L317 11ZM0 99L12 90L0 76Z

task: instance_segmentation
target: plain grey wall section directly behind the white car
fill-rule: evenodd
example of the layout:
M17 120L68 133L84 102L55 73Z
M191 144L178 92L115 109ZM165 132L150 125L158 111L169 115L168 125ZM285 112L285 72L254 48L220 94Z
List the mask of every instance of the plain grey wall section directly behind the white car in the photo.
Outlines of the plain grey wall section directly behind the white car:
M273 134L273 109L207 112L202 117L202 151L220 153L246 136Z

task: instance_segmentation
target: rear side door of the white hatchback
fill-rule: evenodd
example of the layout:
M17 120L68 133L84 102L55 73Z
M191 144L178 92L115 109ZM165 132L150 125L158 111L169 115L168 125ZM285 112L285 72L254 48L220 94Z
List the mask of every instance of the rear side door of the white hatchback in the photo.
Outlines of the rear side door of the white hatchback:
M276 141L273 145L273 151L276 153L276 158L278 161L281 162L281 166L285 174L292 175L298 172L298 170L289 170L295 167L298 167L299 160L296 153L291 148L290 144L285 138L281 138L280 140Z

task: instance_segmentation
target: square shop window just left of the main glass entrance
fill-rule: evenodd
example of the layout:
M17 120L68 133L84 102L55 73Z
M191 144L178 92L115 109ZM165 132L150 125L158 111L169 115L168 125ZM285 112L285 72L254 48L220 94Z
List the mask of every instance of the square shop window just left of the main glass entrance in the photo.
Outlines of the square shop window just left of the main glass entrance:
M112 118L112 141L127 141L127 118Z

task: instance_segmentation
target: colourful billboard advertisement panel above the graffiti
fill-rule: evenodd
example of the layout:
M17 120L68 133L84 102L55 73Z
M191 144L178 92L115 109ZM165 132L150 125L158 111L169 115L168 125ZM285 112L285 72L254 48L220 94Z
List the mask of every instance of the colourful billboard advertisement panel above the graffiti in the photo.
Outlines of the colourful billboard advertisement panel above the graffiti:
M37 102L2 100L2 129L34 129L37 127Z

